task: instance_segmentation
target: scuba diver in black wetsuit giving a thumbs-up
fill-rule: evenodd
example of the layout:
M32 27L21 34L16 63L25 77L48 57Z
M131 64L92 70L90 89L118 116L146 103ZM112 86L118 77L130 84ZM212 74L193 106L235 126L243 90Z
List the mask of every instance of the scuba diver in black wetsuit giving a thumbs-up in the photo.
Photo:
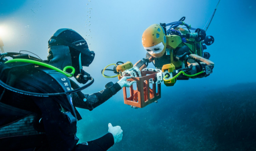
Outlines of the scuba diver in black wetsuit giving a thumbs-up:
M126 81L131 77L83 94L81 90L94 79L82 67L88 67L95 54L72 29L57 30L48 41L48 53L44 61L28 54L1 53L0 150L106 151L120 142L121 127L109 123L103 137L77 144L76 123L82 118L76 107L93 110L122 87L131 86L134 82ZM70 77L81 84L91 81L80 87Z

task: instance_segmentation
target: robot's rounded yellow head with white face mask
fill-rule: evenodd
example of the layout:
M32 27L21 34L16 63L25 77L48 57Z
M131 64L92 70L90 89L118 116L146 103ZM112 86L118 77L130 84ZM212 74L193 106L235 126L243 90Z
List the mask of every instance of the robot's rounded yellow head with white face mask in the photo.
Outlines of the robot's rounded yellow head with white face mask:
M162 26L153 24L149 26L142 34L142 45L147 52L160 58L165 53L166 36Z

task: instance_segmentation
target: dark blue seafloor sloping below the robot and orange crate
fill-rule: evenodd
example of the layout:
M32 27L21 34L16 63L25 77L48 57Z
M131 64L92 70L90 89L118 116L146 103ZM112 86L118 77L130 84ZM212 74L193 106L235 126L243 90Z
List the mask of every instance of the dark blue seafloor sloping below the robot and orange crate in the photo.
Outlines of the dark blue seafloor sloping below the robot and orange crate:
M118 119L124 130L122 141L109 151L256 150L256 83L162 94L160 101L165 103L138 110L127 107L119 116L114 110L102 110L106 117ZM83 122L88 127L97 124ZM87 141L97 135L89 131L78 130L78 137Z

